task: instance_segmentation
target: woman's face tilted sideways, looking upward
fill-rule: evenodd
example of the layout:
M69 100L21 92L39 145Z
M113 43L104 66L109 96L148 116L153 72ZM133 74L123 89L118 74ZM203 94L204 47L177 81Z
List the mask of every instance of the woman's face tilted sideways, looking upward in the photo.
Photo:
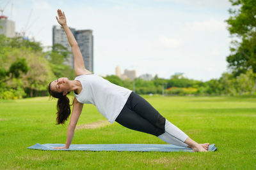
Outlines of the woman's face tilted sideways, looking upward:
M69 80L66 77L58 78L51 82L51 90L53 92L67 92Z

